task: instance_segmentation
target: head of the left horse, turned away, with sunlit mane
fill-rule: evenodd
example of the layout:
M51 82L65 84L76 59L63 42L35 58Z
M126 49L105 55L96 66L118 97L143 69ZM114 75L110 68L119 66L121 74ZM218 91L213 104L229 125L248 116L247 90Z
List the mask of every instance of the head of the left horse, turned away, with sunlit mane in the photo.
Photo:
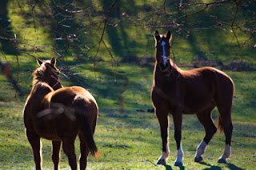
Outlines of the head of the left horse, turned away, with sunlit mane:
M46 82L54 90L62 88L61 81L58 77L60 70L56 66L56 58L52 57L47 61L42 61L37 58L37 62L40 66L34 72L34 78L38 79L38 81Z

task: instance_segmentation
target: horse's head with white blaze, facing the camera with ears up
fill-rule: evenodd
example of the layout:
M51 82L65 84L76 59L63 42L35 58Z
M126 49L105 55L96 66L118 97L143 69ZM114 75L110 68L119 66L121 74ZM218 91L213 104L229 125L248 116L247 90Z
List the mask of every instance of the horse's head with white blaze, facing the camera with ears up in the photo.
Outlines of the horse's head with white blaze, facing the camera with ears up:
M166 35L161 35L158 30L154 33L156 61L162 72L166 72L170 68L170 30Z

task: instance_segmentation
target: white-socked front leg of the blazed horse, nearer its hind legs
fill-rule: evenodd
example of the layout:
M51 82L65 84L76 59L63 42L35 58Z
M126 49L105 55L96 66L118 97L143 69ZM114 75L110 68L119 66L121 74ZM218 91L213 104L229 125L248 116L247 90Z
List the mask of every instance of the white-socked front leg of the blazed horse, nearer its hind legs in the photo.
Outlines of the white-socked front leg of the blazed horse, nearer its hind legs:
M183 150L182 150L182 113L177 112L173 113L174 119L174 138L177 145L177 157L174 163L174 166L183 166Z

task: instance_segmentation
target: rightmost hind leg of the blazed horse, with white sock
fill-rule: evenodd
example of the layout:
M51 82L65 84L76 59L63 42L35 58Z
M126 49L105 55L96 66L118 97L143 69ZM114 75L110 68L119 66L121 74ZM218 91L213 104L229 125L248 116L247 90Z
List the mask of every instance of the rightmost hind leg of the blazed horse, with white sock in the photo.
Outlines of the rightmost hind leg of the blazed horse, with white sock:
M221 128L224 129L225 137L226 137L226 146L224 148L224 153L218 159L218 163L226 164L226 159L231 155L231 137L233 132L233 125L231 121L231 107L230 109L226 109L223 106L218 106L219 112L219 124Z

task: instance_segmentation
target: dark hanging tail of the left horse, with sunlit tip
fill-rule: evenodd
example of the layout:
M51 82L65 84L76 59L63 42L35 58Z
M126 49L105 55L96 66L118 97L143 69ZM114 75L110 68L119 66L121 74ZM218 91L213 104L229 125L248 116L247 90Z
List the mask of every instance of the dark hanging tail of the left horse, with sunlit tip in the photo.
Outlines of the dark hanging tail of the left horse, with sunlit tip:
M82 133L86 137L86 146L89 149L90 153L97 160L98 156L100 156L100 152L98 152L98 148L94 142L94 132L90 125L90 119L85 114L85 112L89 112L89 109L87 108L88 106L85 106L83 100L76 100L74 101L74 107L76 108L78 122L81 125ZM95 117L97 119L97 115Z

